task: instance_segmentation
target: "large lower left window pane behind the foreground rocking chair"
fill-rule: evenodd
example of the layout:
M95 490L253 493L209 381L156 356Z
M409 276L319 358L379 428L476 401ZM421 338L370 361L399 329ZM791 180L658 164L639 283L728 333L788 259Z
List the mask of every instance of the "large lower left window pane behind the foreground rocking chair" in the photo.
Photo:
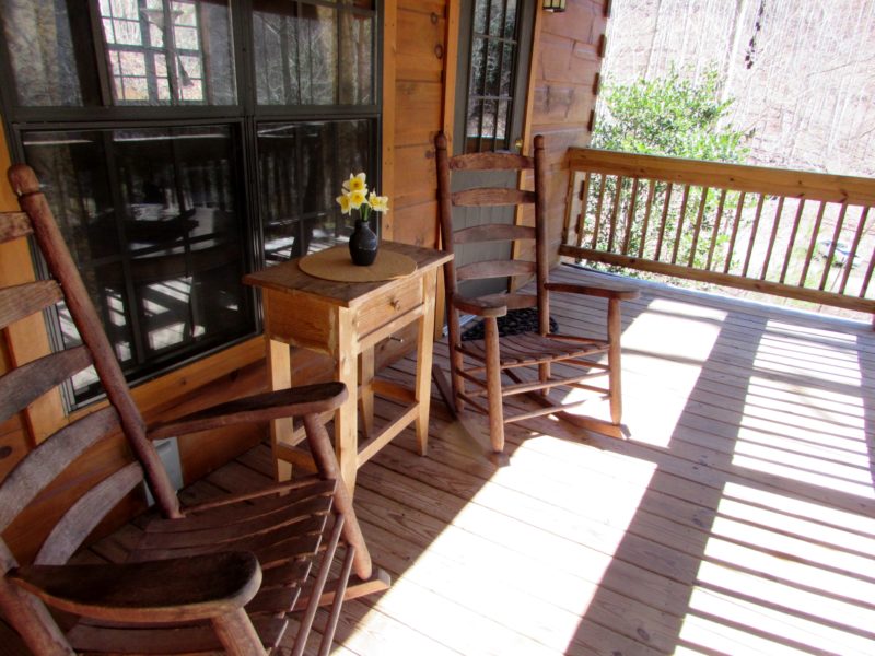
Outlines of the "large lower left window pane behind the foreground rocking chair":
M231 127L23 134L129 377L254 330L235 139Z

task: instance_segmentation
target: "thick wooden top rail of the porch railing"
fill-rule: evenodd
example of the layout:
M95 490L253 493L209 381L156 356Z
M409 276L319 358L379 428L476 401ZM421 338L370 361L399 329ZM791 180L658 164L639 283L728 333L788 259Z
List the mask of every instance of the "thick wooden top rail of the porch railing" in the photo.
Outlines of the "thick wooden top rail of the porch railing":
M638 155L590 148L569 149L569 166L575 171L597 171L630 178L875 206L875 179L865 177Z

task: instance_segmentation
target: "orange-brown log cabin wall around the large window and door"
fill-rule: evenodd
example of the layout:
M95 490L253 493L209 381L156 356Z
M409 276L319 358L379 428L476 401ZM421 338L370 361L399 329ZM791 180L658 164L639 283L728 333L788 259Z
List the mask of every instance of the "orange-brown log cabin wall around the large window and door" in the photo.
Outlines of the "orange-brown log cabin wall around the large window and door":
M534 0L526 0L534 1ZM590 114L594 108L595 80L600 65L605 12L608 0L569 0L565 14L544 14L535 24L533 73L528 91L526 142L544 133L549 154L549 211L551 234L559 242L568 186L565 150L590 141ZM383 43L383 184L392 211L384 218L386 238L433 247L438 245L436 173L434 136L452 133L458 31L457 0L385 0ZM0 171L10 163L0 134ZM0 210L18 209L0 176ZM24 282L33 278L26 249L0 247L0 280ZM26 362L49 350L45 326L14 326L0 340L0 367ZM377 352L377 362L397 358L416 340L389 341ZM255 338L195 364L138 385L137 402L148 421L170 418L244 394L266 388L265 344ZM293 356L293 366L308 380L326 377L325 362L307 352ZM30 414L0 426L0 477L67 418L60 395L47 395ZM196 480L264 435L264 430L229 429L185 438L179 445L186 482ZM104 453L91 454L83 470L44 495L38 516L13 526L9 542L32 552L51 517L77 499L82 481L103 478L129 460L121 441ZM119 508L116 522L143 507L140 497ZM105 527L110 528L110 527Z

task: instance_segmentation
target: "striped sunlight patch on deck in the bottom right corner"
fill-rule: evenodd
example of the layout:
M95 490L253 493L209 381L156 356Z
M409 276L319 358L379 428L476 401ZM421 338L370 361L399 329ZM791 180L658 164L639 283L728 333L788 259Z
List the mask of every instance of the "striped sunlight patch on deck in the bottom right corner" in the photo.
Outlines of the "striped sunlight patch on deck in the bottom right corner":
M871 654L873 553L875 520L727 483L677 653Z

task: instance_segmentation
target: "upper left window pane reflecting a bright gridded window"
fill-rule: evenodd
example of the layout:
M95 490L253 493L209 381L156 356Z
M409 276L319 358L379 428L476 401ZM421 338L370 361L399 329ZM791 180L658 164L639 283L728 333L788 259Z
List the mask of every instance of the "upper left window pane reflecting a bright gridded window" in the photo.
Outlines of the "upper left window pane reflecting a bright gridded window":
M20 106L237 102L229 0L102 0L94 11L100 54L84 3L0 0ZM97 58L109 98L101 97Z

